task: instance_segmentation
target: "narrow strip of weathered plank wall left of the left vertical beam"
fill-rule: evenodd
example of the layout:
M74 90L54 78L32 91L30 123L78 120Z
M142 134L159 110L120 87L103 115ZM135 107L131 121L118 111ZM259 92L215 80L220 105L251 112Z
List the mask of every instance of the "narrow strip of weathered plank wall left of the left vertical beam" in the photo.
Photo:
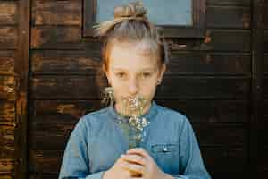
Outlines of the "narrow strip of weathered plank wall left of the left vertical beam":
M13 178L16 77L18 48L17 1L0 1L0 178Z

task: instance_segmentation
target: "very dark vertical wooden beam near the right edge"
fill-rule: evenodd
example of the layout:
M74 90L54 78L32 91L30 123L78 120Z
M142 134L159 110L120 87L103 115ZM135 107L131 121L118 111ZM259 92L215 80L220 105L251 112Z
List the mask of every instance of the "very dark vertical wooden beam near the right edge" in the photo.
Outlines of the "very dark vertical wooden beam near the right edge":
M249 178L263 178L264 155L264 0L252 0L252 117L249 123Z

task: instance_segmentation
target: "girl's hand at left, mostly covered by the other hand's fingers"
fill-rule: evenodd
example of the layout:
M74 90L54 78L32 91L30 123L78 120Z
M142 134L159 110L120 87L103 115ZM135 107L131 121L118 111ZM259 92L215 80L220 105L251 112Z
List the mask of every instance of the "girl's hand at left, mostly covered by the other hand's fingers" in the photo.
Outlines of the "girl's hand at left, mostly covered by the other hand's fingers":
M103 179L127 179L131 178L131 172L124 169L124 166L128 165L128 162L123 160L124 155L116 160L114 165L105 172Z

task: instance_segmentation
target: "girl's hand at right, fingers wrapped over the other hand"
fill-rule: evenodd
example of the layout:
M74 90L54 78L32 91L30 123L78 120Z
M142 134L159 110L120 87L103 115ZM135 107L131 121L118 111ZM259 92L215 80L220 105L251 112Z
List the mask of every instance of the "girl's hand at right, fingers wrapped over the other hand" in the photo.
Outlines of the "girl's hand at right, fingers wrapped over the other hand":
M135 148L129 149L127 154L122 158L128 163L123 166L127 171L130 171L131 176L137 176L143 179L165 179L172 178L171 175L165 174L155 163L145 149Z

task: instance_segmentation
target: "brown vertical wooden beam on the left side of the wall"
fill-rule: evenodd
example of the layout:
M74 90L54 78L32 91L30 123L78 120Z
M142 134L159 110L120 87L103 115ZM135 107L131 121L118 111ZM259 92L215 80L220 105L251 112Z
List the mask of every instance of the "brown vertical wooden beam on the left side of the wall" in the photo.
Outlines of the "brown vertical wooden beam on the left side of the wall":
M19 40L15 56L15 74L19 83L16 99L15 130L15 179L27 177L27 125L28 125L28 84L29 84L29 15L30 0L20 0Z

